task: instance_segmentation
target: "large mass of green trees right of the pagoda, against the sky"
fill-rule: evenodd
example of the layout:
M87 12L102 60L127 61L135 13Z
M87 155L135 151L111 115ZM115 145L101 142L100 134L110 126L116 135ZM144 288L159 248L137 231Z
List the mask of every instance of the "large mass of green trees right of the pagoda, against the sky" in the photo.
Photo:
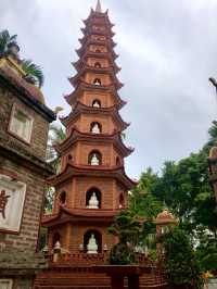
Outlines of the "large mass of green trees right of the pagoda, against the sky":
M170 268L176 284L190 284L197 276L199 266L202 272L217 268L217 211L207 164L209 149L217 141L217 126L212 126L208 133L207 143L197 153L191 153L179 162L165 162L159 174L151 168L142 173L139 186L129 198L130 210L148 221L162 211L163 204L179 218L179 231L175 230L174 236L170 233L170 239L165 243L167 269ZM149 226L149 223L143 226ZM145 227L142 231L149 236ZM146 237L142 240L149 243ZM154 241L149 244L150 252L153 244Z

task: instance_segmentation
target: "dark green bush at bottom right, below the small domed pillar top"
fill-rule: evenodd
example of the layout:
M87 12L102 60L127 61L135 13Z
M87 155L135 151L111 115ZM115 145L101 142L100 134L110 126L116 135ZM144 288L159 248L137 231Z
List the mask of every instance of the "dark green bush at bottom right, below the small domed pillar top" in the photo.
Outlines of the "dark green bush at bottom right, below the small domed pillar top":
M164 236L165 268L171 285L202 288L200 264L189 236L176 227Z

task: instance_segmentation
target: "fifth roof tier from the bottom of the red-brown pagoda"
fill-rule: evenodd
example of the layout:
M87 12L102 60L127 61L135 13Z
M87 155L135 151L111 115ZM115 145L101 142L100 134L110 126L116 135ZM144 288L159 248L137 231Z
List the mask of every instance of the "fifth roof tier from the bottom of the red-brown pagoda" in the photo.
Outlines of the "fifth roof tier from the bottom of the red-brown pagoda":
M117 105L118 108L123 108L126 104L126 101L122 100L120 97L118 96L116 89L114 86L95 86L95 85L90 85L87 83L80 83L80 85L68 96L65 96L65 100L69 105L74 105L75 102L77 101L78 97L82 91L91 91L91 92L99 92L99 91L104 91L108 92L115 96L117 100Z

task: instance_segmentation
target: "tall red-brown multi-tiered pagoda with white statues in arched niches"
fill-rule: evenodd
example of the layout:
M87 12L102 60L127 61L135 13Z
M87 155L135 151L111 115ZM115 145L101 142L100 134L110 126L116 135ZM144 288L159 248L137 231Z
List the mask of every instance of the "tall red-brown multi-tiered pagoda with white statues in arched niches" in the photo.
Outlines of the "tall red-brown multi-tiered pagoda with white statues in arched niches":
M100 1L84 23L79 59L73 63L77 73L69 78L74 91L65 97L72 111L61 118L66 139L55 146L61 168L49 178L55 188L53 212L42 226L48 228L50 252L61 247L71 254L99 254L117 242L107 227L127 205L136 183L124 167L132 149L122 137L129 124L119 114L126 102L118 95L123 84L116 76L120 68L115 63L114 25Z

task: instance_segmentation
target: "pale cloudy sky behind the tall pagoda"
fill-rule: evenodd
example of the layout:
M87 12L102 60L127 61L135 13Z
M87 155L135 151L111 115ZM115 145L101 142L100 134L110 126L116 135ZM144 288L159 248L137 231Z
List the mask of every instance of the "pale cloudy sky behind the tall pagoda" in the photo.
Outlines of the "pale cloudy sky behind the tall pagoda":
M21 55L46 75L48 105L65 108L63 95L75 71L81 20L97 0L1 0L0 29L18 35ZM217 76L216 0L102 0L115 23L116 52L125 84L120 96L132 177L164 161L196 152L207 140L217 100L209 76Z

